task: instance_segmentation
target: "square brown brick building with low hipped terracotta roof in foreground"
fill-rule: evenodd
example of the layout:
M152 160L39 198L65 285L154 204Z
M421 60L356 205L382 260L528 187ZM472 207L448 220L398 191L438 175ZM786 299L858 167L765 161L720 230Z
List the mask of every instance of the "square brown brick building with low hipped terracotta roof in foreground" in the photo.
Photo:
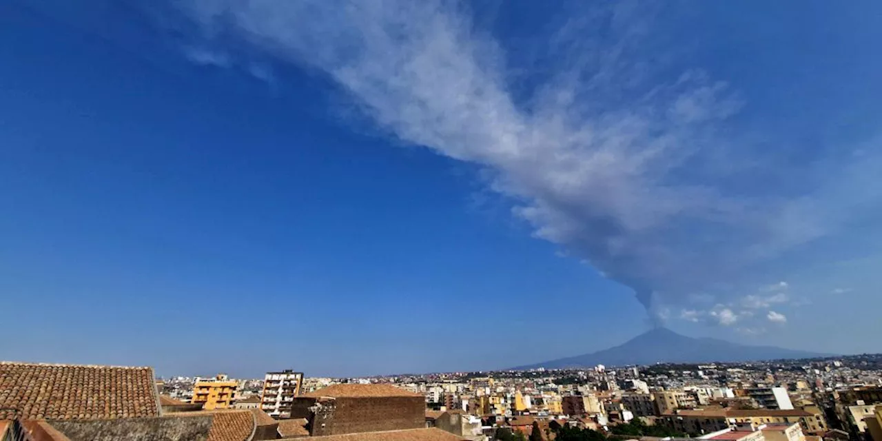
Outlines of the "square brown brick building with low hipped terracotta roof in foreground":
M393 385L330 385L295 397L310 436L425 428L425 398Z

